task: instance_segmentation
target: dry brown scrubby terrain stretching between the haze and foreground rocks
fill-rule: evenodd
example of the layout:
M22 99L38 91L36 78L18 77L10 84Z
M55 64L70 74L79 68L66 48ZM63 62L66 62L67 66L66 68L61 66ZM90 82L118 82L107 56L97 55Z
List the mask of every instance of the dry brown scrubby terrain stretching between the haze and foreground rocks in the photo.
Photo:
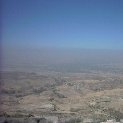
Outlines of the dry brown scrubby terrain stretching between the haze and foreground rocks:
M2 71L0 87L1 117L123 118L121 73Z

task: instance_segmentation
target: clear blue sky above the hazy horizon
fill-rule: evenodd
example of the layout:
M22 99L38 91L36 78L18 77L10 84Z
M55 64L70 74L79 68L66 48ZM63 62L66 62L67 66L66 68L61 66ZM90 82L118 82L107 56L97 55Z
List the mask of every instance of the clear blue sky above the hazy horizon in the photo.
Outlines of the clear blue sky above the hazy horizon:
M3 47L123 49L123 0L2 0Z

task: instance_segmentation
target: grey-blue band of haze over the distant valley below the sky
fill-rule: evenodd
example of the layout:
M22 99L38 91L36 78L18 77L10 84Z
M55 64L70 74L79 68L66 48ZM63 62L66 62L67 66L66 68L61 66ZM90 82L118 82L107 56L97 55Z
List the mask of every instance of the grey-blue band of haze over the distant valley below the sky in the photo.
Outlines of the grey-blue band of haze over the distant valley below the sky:
M2 66L3 70L10 68L31 72L82 72L103 69L107 69L107 72L122 72L122 54L122 50L104 49L6 48L3 49Z

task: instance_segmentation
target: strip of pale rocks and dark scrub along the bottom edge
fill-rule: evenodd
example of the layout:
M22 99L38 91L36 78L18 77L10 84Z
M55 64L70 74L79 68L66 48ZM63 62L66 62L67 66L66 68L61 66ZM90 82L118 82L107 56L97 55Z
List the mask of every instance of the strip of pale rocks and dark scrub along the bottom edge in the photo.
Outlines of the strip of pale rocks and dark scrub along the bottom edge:
M0 123L123 123L123 119L116 122L115 119L105 122L94 121L93 119L67 118L59 119L56 116L38 117L38 118L6 118L0 117Z

